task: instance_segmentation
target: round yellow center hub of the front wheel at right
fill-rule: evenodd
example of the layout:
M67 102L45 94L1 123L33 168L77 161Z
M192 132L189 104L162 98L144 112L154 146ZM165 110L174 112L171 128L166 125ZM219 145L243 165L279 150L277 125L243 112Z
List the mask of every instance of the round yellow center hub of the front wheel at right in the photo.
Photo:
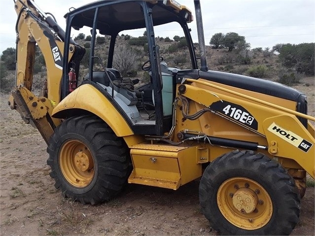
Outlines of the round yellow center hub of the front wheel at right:
M248 214L255 210L258 197L251 189L240 188L233 195L232 202L238 211L243 214Z

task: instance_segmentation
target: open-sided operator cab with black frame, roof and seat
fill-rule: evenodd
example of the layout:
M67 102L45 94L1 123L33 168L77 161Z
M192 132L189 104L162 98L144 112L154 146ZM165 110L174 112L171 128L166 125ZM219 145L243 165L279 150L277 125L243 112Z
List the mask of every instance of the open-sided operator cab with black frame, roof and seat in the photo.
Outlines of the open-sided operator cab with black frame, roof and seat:
M74 9L66 17L65 38L78 34L75 32L77 30L91 32L90 48L87 48L80 64L80 73L87 73L82 85L92 84L101 91L120 111L135 134L163 135L168 132L173 122L175 74L179 69L175 65L168 67L160 57L158 40L161 39L155 33L165 27L174 27L172 24L179 24L183 38L186 39L187 52L183 55L189 57L185 59L191 61L189 67L197 69L194 46L187 26L192 21L191 11L174 0L102 0ZM121 46L121 35L137 29L147 32L143 37L131 38L139 40L139 44L135 45L131 40L125 43L126 47ZM131 49L131 46L135 48ZM70 41L65 42L65 51L69 51L69 48ZM131 54L121 56L130 52ZM142 64L142 70L149 74L150 81L132 91L119 85L123 84L126 77L123 67L126 61L123 59L133 57L133 53L138 53L133 68L139 71L139 65ZM67 81L71 62L67 63L68 55L65 56L64 68L67 69L64 70L64 80ZM145 58L148 59L146 62L143 61ZM119 81L113 83L115 80ZM66 84L63 84L64 90L67 89ZM155 119L148 119L151 113L155 114Z

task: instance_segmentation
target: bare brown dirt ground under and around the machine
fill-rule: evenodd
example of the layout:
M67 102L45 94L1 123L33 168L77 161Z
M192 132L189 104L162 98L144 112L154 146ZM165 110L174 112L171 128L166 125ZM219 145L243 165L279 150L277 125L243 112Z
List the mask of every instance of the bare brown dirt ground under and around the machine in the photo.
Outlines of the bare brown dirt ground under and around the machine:
M315 115L314 78L296 86ZM96 206L63 199L46 165L46 143L1 96L0 235L217 235L199 206L193 181L177 191L128 185L116 199ZM302 200L291 235L314 235L314 188Z

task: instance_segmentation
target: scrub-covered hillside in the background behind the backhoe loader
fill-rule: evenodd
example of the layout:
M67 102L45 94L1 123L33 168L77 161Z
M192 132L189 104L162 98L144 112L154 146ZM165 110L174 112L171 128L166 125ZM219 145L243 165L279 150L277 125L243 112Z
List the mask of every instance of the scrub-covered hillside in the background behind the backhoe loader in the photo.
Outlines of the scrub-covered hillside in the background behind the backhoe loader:
M90 53L90 36L76 37L75 40L82 47L85 47L86 53L82 58L80 71L79 71L79 81L83 81L85 75L89 71L89 53ZM128 37L126 37L128 36ZM175 36L176 37L176 36ZM159 46L160 56L163 57L164 61L169 67L179 67L181 69L191 68L190 58L188 48L186 46L186 41L184 37L177 36L177 40L172 40L170 38L157 37L156 42ZM142 64L148 60L148 48L145 36L140 37L130 37L129 35L122 35L117 37L117 43L114 56L113 67L118 69L123 76L139 78L141 82L146 82L149 79L147 72L141 70ZM277 44L280 47L282 44ZM283 44L284 45L284 44ZM282 45L282 46L283 46ZM302 44L299 44L302 45ZM297 45L297 46L299 46ZM107 64L108 57L108 47L109 38L107 36L97 36L97 43L95 45L95 56L99 56L103 63ZM275 48L277 48L275 46ZM289 45L290 47L295 45ZM302 45L303 46L303 45ZM314 47L314 45L311 45ZM198 43L195 43L196 54L199 54ZM305 75L304 71L299 71L300 66L289 61L290 67L287 66L288 62L284 61L283 57L280 60L281 53L275 52L269 48L254 48L245 49L235 48L229 51L228 48L218 48L213 49L210 46L207 48L207 62L210 70L219 70L224 72L231 72L236 74L244 74L252 77L259 77L270 79L273 81L279 81L280 83L292 86L294 84L299 84L300 81L303 82ZM11 62L14 57L15 52L13 48L11 49L11 56L6 56L6 59L10 59ZM290 48L289 48L290 49ZM308 49L303 47L304 51ZM278 48L278 51L279 48ZM5 51L3 51L4 53ZM3 59L3 53L1 59ZM301 54L301 53L300 53ZM313 54L314 58L314 54ZM303 58L302 58L303 59ZM287 60L287 59L285 59ZM293 60L293 59L292 59ZM305 60L305 59L303 59ZM13 60L14 61L14 60ZM301 61L301 60L300 60ZM308 67L311 67L311 71L314 74L314 63L309 65L312 58L306 59L305 62ZM199 62L198 62L199 63ZM285 64L286 63L286 64ZM300 64L301 64L300 63ZM1 62L1 92L9 92L14 86L14 71L7 70L9 66L7 61ZM302 64L302 66L304 65ZM15 64L11 63L10 67L15 67ZM127 65L127 66L126 66ZM284 67L283 65L286 65ZM95 60L94 70L102 69L101 64ZM34 86L35 90L42 87L43 81L46 79L46 67L44 58L38 48L36 48L35 56L35 75L34 75ZM310 74L310 73L309 73ZM311 72L312 74L312 72ZM311 82L307 82L308 85L312 85Z

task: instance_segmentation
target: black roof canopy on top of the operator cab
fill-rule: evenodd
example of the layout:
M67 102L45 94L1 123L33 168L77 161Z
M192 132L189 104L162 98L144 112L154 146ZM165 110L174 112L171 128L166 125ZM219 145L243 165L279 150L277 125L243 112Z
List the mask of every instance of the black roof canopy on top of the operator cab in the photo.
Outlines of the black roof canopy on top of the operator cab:
M95 11L98 8L96 28L100 34L114 35L123 30L145 28L141 2L152 4L154 26L174 21L192 21L191 11L174 0L100 0L76 8L67 15L73 17L71 26L74 29L83 26L92 28Z

